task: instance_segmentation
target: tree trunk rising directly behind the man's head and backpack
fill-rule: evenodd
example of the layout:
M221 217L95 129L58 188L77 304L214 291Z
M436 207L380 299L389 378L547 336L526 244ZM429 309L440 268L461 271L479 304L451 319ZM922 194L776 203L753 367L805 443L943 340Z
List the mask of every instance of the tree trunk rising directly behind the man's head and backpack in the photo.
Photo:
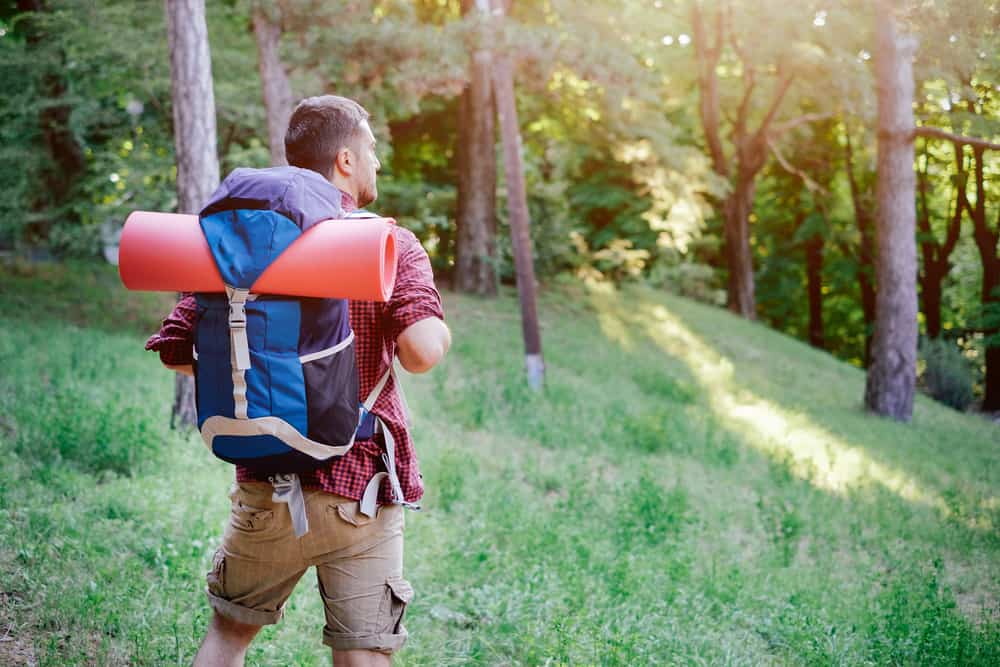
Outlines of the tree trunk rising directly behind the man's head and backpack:
M292 116L292 87L281 62L281 9L254 3L251 20L257 39L257 69L267 111L267 140L271 164L288 164L285 159L285 130Z

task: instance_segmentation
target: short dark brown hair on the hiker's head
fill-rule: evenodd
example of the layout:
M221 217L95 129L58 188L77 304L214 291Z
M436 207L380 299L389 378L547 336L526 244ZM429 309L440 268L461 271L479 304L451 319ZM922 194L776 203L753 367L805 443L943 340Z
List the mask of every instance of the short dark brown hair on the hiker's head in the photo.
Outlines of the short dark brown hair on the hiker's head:
M368 120L363 106L338 95L307 97L288 120L285 157L293 167L312 169L329 178L337 152L350 145Z

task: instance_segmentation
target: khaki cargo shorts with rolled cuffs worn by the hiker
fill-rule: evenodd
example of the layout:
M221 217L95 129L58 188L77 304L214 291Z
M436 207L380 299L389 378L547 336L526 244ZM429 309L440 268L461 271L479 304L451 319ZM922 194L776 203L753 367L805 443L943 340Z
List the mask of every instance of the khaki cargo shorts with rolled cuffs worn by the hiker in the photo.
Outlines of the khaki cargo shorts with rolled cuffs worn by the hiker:
M326 608L323 643L335 651L398 650L413 597L402 576L403 508L382 506L372 519L356 500L303 489L309 532L299 539L273 491L267 483L233 485L229 525L206 577L212 607L248 625L277 623L314 565Z

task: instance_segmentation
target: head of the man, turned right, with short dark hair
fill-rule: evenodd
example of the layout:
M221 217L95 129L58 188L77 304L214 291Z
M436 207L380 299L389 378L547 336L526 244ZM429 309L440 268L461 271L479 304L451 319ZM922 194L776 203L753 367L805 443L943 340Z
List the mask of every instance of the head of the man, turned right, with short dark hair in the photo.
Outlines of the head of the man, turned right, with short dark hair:
M358 206L375 201L375 136L368 112L337 95L308 97L295 107L285 132L288 164L317 171L352 195Z

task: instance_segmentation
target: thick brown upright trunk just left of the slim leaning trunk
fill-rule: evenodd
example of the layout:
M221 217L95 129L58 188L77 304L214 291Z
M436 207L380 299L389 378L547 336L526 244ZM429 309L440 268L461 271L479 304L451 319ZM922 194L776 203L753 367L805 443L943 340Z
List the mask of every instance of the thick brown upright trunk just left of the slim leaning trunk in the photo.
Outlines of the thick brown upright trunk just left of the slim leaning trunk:
M485 0L462 0L462 14L489 11ZM469 85L458 102L458 238L455 287L494 296L496 278L496 140L493 126L492 57L479 35L469 62Z

